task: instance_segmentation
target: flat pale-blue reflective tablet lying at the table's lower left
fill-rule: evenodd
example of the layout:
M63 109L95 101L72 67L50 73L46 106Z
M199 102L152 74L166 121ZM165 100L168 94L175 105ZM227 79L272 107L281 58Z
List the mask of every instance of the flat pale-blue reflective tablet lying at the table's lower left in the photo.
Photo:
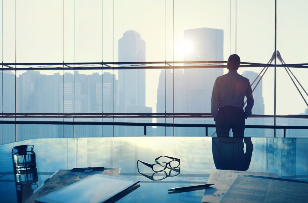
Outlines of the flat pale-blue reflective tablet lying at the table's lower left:
M103 202L139 181L96 174L35 199L36 202Z

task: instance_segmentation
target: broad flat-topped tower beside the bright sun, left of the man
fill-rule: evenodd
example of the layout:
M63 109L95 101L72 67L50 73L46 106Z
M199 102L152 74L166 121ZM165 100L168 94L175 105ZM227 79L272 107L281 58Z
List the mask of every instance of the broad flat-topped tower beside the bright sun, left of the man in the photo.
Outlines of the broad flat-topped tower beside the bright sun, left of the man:
M192 51L184 61L222 61L224 59L224 31L214 28L184 30L184 40L191 44ZM223 68L184 69L184 105L180 112L211 112L211 96L215 79L223 75ZM213 124L213 119L182 119L179 122ZM203 128L183 128L185 136L205 135ZM214 129L209 129L209 133Z

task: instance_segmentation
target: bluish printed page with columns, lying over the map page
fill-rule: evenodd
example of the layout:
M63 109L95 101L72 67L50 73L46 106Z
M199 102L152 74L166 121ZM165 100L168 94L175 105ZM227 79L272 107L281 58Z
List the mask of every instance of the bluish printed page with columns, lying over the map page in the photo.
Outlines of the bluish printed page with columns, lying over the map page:
M307 182L239 175L221 202L307 202L307 198Z

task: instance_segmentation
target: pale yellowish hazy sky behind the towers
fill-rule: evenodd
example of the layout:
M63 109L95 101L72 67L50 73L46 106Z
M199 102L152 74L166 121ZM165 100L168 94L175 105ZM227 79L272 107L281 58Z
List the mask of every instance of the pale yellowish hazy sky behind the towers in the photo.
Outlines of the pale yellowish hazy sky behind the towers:
M0 2L0 56L9 63L15 61L15 4L12 0ZM184 30L199 27L224 30L224 60L237 53L243 62L267 63L274 52L274 0L175 0L174 9L170 0L114 0L114 18L112 4L111 0L75 0L74 53L73 0L16 0L16 62L73 62L74 55L75 62L117 61L118 40L127 30L136 30L146 42L146 61L182 61ZM277 1L277 49L286 63L307 63L307 8L305 0ZM259 73L261 69L249 70ZM307 91L308 70L291 70ZM153 112L159 74L160 70L146 71L146 105ZM263 77L263 97L265 114L273 115L274 68ZM277 68L277 115L299 114L305 108L286 71Z

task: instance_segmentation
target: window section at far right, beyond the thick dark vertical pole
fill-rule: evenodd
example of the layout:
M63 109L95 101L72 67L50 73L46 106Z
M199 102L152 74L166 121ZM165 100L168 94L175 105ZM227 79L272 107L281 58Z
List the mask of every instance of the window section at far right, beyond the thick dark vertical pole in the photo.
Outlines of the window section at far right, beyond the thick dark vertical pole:
M281 58L277 63L307 63L306 19L308 14L306 1L280 1L277 3L277 50ZM287 29L286 29L287 28ZM295 31L296 30L296 31ZM281 62L279 59L282 59ZM288 72L287 72L288 71ZM306 68L277 67L277 114L278 115L308 115L308 90ZM291 76L291 77L290 77ZM292 79L296 86L294 85ZM302 88L302 87L303 88ZM302 96L300 95L299 91ZM306 92L305 92L306 91ZM308 125L307 119L286 118L277 119L278 125ZM286 136L301 137L308 134L308 129L286 130Z

